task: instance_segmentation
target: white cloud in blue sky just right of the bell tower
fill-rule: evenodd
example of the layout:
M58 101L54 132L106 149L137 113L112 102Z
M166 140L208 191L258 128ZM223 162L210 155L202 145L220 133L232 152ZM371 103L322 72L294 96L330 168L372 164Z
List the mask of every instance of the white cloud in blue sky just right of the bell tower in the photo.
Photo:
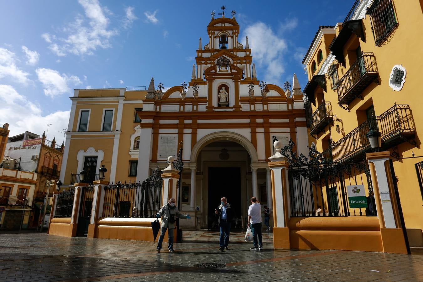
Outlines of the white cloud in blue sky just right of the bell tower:
M258 79L268 83L280 82L284 72L283 53L287 49L286 41L276 36L273 30L263 22L247 26L242 38L245 36L248 36L253 62L258 68ZM264 71L264 74L260 74L260 69Z

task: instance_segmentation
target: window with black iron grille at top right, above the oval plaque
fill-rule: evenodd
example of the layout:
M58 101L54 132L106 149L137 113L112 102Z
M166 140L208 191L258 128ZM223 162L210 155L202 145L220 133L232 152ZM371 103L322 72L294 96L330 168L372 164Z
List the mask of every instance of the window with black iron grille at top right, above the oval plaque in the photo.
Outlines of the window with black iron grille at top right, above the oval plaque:
M398 25L392 0L374 0L367 14L376 46L380 46Z

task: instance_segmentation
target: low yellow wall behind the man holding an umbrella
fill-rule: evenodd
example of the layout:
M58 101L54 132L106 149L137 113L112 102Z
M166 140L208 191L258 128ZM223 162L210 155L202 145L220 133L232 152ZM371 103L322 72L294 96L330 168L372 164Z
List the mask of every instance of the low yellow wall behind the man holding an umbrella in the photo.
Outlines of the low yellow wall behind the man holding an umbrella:
M94 231L94 238L154 241L151 222L156 218L114 218L104 217L97 221ZM159 240L160 231L156 241ZM176 240L176 229L174 230L174 241ZM165 242L168 241L166 232Z

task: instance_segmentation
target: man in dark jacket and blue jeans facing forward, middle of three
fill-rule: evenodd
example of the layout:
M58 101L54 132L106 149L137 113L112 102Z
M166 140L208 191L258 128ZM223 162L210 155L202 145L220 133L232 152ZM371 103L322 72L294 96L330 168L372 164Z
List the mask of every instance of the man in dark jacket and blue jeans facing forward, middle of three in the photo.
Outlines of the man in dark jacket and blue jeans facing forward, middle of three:
M225 197L220 199L220 206L215 210L215 216L217 217L217 222L219 223L220 227L219 250L221 252L223 252L224 249L228 251L229 232L231 231L233 213L231 205L228 203L228 199Z

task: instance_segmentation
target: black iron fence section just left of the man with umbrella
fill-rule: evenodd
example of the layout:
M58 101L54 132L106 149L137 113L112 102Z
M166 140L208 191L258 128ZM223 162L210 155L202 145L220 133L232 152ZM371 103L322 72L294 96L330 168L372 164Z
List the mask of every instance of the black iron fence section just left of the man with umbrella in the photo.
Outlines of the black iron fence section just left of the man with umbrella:
M155 217L161 207L162 183L157 167L143 182L104 186L103 217Z

